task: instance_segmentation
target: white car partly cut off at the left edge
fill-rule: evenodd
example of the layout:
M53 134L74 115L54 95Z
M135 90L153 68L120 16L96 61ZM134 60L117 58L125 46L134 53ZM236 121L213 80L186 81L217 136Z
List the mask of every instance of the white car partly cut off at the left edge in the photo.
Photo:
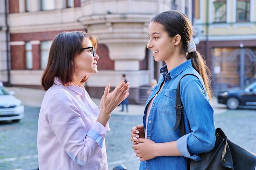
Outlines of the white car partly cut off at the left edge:
M13 91L0 84L0 121L18 122L24 117L24 105L13 95Z

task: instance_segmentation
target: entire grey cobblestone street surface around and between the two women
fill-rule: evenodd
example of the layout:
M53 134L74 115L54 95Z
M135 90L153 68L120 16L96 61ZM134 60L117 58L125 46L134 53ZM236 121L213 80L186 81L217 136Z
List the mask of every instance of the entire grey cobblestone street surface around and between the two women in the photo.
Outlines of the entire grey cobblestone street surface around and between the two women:
M93 99L99 105L99 99ZM216 127L240 146L256 153L256 110L227 110L213 104ZM19 123L0 122L0 170L36 170L37 122L40 108L25 106L25 117ZM142 123L144 106L129 105L129 112L117 107L110 118L111 131L106 136L109 170L123 164L128 170L137 170L139 159L132 150L130 129Z

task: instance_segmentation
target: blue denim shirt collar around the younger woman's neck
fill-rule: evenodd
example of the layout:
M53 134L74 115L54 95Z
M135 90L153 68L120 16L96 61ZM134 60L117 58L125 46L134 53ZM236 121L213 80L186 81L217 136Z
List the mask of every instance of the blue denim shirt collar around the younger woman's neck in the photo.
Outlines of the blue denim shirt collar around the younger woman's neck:
M186 70L189 67L192 66L192 62L190 59L188 59L186 62L180 64L179 66L173 68L171 71L168 72L167 65L164 65L160 69L160 73L162 74L163 78L165 77L171 77L172 79L182 73L184 70Z

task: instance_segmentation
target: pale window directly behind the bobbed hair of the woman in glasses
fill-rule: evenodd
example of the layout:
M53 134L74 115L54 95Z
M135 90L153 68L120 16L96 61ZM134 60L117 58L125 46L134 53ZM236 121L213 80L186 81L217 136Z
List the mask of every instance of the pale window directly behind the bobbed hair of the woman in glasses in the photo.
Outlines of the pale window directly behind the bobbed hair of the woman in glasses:
M42 70L46 68L51 44L52 44L52 41L41 42L40 48L41 48L41 69Z

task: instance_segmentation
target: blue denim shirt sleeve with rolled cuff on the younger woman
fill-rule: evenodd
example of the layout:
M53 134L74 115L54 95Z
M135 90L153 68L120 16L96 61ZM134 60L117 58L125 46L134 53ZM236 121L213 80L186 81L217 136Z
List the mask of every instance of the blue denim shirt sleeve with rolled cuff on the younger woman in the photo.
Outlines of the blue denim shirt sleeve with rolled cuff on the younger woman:
M200 161L197 154L215 145L214 111L200 80L193 75L184 78L181 99L187 134L177 140L177 148L184 157Z

